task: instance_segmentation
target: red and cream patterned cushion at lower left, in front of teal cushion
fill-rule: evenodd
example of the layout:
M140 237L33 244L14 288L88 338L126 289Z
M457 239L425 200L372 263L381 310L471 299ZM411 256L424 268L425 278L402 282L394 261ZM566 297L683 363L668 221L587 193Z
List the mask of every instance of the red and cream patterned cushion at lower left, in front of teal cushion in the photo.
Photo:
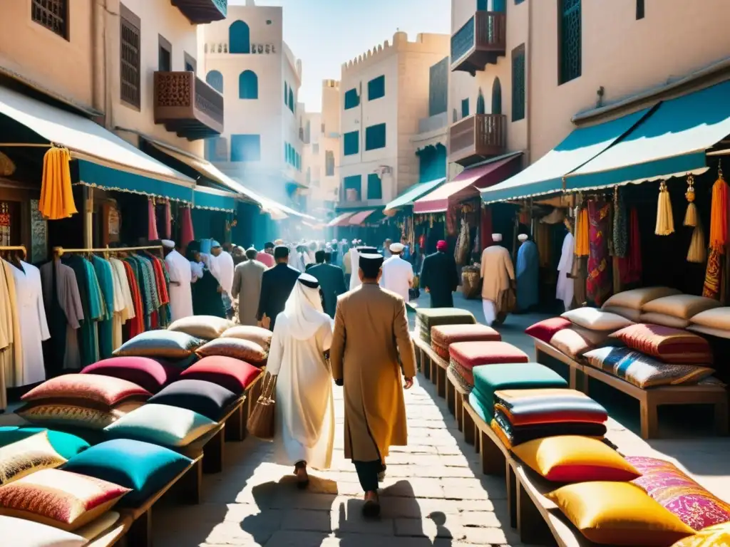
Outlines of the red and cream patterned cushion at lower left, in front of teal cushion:
M0 515L72 531L109 511L128 488L60 469L0 486Z

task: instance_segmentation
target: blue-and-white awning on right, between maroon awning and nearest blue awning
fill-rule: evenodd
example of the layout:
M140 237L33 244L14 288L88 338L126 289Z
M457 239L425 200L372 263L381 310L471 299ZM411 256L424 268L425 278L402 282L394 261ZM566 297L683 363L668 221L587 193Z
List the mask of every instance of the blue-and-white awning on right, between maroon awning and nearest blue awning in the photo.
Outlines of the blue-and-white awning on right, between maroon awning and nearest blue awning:
M539 160L504 182L485 188L485 203L510 199L531 198L563 190L563 177L604 152L630 131L649 109L634 112L618 120L577 128L557 147Z

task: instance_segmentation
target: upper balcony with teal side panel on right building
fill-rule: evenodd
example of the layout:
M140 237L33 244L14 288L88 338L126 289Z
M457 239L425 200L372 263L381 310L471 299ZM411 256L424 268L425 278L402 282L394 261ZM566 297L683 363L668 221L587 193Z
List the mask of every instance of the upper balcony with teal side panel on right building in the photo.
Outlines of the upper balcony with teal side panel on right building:
M451 70L474 75L504 57L506 49L506 14L478 11L451 36Z

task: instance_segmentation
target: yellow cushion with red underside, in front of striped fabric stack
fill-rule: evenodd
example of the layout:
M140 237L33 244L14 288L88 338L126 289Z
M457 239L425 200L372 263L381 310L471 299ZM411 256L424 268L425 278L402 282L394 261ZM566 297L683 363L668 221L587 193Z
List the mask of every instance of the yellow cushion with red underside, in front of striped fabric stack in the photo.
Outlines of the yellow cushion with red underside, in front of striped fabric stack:
M632 481L641 475L606 443L564 435L515 446L515 456L548 481Z

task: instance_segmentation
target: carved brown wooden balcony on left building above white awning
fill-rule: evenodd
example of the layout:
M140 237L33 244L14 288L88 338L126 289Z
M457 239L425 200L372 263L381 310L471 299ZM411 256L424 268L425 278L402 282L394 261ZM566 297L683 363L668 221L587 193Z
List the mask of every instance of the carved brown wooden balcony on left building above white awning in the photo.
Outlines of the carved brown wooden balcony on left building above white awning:
M155 123L190 141L223 133L223 96L194 72L155 72Z

